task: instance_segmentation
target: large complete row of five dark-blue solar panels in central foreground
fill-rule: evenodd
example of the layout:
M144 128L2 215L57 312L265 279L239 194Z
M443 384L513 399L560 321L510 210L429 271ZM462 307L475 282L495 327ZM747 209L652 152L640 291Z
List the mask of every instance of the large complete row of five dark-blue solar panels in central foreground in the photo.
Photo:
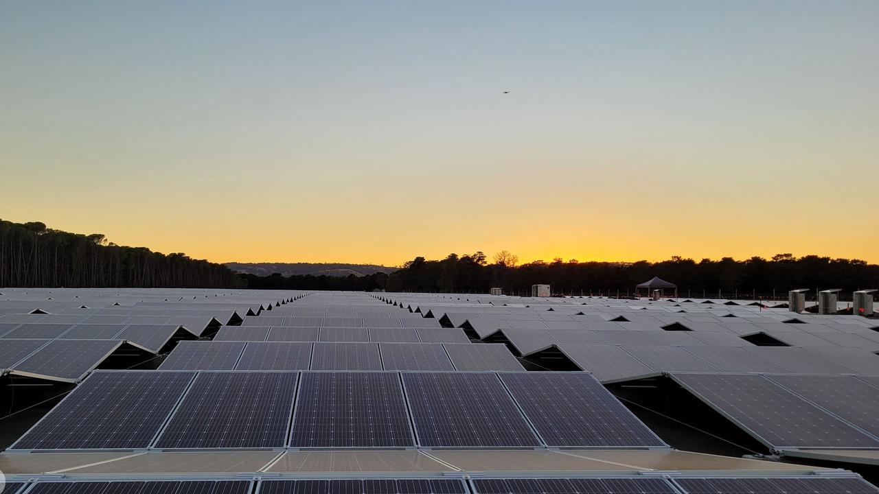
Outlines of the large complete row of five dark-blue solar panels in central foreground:
M541 446L665 443L585 373L99 371L11 448Z

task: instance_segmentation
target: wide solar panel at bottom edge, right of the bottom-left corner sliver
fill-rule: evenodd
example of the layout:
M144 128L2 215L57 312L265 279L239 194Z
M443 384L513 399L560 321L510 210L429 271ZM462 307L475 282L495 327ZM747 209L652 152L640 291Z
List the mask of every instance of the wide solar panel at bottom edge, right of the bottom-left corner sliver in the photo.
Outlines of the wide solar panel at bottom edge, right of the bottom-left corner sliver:
M39 482L33 494L247 494L249 481Z

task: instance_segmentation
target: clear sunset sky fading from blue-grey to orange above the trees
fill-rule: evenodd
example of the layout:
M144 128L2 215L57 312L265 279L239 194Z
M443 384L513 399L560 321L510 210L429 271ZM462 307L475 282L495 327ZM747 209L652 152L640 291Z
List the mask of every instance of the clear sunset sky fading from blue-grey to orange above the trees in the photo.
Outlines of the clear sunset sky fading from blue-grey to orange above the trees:
M875 0L7 2L0 218L217 262L879 263L877 88Z

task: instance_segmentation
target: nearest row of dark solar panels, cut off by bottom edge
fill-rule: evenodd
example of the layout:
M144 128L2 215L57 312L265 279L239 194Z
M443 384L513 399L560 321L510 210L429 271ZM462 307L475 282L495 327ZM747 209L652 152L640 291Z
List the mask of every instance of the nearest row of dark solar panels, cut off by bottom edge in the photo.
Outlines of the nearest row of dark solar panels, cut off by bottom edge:
M29 494L875 494L855 476L38 482ZM18 494L24 483L7 484Z

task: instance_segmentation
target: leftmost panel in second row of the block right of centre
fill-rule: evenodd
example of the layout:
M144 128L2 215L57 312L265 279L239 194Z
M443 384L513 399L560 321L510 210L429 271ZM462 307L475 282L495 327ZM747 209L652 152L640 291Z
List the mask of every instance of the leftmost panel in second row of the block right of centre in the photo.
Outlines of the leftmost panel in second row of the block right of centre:
M619 381L657 374L615 345L561 345L560 349L581 369L599 381Z

